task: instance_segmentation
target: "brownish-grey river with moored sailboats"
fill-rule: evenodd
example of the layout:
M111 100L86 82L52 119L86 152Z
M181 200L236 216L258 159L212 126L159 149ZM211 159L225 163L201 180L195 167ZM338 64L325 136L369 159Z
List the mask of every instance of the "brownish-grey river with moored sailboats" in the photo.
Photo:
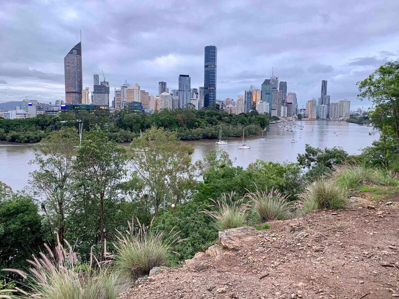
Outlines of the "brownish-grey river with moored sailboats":
M292 124L288 122L288 125ZM293 132L280 129L277 124L270 124L264 140L261 140L261 136L245 139L251 149L238 149L241 139L228 139L228 144L223 146L215 145L214 140L187 143L194 146L193 160L201 159L210 149L223 149L231 158L235 158L234 165L246 167L256 159L295 162L298 153L305 151L305 144L322 149L342 147L350 154L357 154L360 149L370 146L379 138L378 133L370 136L368 127L346 122L301 121L298 124L304 126L304 129L294 128ZM291 143L293 133L295 143ZM33 157L31 144L0 143L0 181L13 190L26 186L29 172L35 169L35 165L29 165Z

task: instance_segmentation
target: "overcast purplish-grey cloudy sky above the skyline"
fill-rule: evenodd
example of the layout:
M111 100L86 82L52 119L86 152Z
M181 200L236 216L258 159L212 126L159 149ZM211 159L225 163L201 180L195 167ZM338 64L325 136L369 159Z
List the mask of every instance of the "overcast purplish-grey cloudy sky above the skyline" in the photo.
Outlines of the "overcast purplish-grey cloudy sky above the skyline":
M179 74L203 86L205 45L217 47L217 99L235 99L272 75L299 108L320 96L357 99L356 82L399 59L399 0L0 0L0 102L65 98L64 56L80 40L83 87L104 70L158 94Z

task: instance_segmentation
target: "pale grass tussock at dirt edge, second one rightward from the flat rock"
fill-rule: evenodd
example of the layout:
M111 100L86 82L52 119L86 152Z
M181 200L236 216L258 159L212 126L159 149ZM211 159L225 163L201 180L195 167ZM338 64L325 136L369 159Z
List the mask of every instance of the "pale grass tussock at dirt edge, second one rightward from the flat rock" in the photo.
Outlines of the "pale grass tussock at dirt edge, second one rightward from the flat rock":
M261 221L284 220L292 217L291 203L278 190L251 192L245 197L250 200L251 208Z

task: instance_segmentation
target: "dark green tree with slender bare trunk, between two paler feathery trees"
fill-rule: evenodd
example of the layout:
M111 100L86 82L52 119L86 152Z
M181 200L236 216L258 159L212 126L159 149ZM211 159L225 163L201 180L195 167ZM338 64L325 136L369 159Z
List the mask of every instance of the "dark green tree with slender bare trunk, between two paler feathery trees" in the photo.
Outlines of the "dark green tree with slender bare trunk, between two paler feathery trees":
M96 128L85 135L74 161L77 188L85 212L96 213L100 245L105 243L105 209L118 200L119 183L126 175L126 150L109 141L105 132ZM104 250L101 250L104 259Z

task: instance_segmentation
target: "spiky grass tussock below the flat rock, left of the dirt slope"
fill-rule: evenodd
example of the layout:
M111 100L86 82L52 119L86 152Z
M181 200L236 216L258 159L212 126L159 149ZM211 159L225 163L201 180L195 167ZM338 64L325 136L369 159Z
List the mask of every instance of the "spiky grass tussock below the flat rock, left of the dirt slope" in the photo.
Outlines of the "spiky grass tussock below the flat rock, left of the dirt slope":
M126 234L120 233L114 243L114 267L121 276L137 279L150 273L154 267L166 266L172 252L172 245L178 240L171 231L171 241L165 241L164 232L150 232L137 220L129 223Z

